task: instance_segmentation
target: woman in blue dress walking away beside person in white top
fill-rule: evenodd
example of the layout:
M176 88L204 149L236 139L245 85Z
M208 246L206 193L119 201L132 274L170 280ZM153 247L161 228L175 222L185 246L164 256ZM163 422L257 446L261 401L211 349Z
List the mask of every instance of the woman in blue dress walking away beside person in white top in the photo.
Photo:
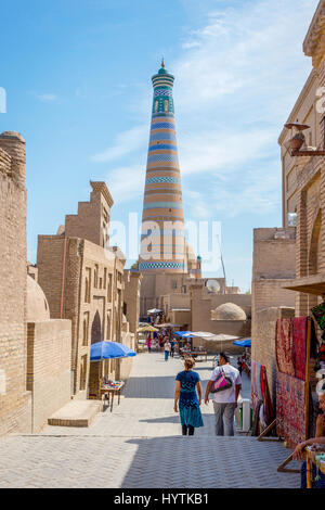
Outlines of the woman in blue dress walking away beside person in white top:
M194 366L193 358L185 358L185 370L178 373L176 378L173 409L174 412L178 412L179 404L183 435L187 435L187 431L188 435L194 435L194 429L204 426L199 409L202 403L200 379L197 372L192 371Z

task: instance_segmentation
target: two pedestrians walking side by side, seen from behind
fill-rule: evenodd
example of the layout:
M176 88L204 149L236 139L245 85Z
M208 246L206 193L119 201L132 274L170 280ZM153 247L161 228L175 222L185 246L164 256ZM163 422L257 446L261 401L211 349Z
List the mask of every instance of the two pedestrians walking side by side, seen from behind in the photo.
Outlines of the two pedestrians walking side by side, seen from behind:
M180 412L182 435L194 435L196 428L204 426L202 406L202 385L197 372L193 371L195 360L185 358L184 369L176 378L174 411ZM230 365L225 353L220 353L218 367L214 368L205 393L205 404L213 401L216 415L216 435L234 435L234 413L242 388L239 371Z

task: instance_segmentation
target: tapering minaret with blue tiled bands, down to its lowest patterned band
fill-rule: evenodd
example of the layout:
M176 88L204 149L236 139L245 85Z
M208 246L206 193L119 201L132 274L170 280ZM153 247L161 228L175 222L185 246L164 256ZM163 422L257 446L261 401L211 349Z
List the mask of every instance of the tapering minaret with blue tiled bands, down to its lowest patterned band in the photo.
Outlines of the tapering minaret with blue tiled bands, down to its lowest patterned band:
M164 60L152 80L154 98L139 269L184 272L184 215L172 98L174 77L165 69Z

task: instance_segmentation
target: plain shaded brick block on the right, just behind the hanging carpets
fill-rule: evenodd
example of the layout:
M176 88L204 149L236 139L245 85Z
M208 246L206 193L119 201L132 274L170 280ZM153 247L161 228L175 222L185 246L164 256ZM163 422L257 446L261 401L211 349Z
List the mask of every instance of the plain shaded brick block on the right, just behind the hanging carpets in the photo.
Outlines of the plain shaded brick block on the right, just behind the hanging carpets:
M296 228L253 230L251 281L251 357L266 367L275 398L275 324L295 316L295 294L284 290L296 275Z

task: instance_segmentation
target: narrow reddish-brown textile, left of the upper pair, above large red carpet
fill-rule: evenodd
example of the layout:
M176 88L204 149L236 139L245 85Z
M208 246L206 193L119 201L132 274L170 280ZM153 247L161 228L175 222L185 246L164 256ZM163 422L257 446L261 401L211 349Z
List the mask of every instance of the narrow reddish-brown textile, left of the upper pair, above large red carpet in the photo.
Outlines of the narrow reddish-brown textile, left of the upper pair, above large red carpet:
M295 377L291 319L277 319L275 350L278 371Z

